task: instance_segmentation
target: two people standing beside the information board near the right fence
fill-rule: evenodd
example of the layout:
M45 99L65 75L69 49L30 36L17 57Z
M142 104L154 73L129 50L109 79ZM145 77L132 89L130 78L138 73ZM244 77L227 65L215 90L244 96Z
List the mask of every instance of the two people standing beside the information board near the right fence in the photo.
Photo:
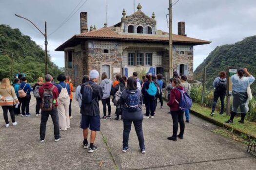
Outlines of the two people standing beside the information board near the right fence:
M245 76L246 75L246 76ZM230 119L225 121L226 123L234 123L234 118L237 113L241 114L241 119L238 121L239 123L244 123L244 119L246 113L249 111L249 101L252 98L250 85L255 81L255 77L251 75L247 68L240 68L237 71L237 74L234 74L231 77L232 82L232 111ZM225 71L221 71L219 76L215 78L213 82L214 90L214 99L212 105L212 112L210 116L215 115L215 108L217 105L218 98L220 99L221 109L219 114L223 115L224 113L224 100L227 91L227 75Z

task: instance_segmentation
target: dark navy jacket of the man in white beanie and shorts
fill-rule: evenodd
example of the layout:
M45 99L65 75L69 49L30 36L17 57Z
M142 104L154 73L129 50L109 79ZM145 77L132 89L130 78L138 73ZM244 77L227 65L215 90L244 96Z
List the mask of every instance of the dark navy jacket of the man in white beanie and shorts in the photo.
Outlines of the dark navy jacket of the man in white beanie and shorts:
M99 85L93 81L86 82L81 85L81 93L85 85L89 84L93 88L93 101L88 104L82 103L81 105L81 114L85 116L99 116L99 105L98 101L101 100L103 93ZM82 99L84 97L82 96Z

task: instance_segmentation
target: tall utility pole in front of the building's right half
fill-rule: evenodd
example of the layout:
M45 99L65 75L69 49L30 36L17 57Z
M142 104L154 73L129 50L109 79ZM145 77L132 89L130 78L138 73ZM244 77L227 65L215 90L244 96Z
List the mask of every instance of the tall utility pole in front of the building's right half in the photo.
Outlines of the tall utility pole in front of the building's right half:
M172 0L169 0L169 79L173 76L173 16L172 16Z

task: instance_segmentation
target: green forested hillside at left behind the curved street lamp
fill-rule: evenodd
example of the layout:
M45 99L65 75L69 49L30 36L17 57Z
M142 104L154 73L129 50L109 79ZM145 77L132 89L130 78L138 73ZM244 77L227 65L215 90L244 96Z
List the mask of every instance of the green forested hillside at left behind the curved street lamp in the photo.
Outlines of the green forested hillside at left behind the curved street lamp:
M8 77L13 80L16 73L25 73L29 82L36 82L39 76L44 76L44 51L19 29L0 25L0 51L0 79ZM61 70L50 59L48 56L48 73L56 78Z

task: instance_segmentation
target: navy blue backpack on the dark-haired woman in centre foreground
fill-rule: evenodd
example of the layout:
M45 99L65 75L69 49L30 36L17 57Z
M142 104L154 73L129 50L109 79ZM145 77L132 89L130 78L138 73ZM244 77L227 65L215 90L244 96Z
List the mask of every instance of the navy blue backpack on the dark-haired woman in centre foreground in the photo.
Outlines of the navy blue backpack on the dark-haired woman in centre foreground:
M139 108L139 96L137 92L130 92L125 100L125 105L129 111L134 112Z

